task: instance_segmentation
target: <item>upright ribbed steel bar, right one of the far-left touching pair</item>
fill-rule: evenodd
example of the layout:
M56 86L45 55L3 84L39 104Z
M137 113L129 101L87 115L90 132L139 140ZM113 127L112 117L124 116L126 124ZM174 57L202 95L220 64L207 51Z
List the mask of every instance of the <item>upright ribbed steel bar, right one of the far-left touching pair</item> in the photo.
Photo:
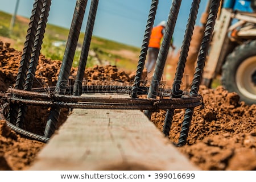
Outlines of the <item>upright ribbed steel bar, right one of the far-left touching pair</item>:
M36 67L38 65L40 50L42 48L44 32L46 30L46 23L47 23L47 19L48 19L48 15L49 15L50 6L51 6L51 0L44 0L42 13L40 15L40 20L38 23L38 28L37 28L37 32L36 32L36 36L35 36L31 61L30 61L30 65L28 67L27 77L25 80L24 90L30 91L33 86L34 76L35 76L35 72L36 72ZM27 111L27 106L22 105L20 107L20 110L18 113L16 126L19 126L20 128L23 127L22 125L24 122L24 117L26 116L26 111Z

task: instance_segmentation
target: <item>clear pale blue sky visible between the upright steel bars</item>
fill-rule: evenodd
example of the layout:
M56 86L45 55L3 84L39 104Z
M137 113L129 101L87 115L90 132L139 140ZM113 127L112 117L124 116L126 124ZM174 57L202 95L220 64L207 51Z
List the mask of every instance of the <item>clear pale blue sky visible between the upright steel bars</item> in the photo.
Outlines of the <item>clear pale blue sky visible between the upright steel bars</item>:
M171 0L159 1L155 24L162 20L167 20L171 2ZM16 0L0 0L0 10L13 13L15 3ZM33 3L34 0L20 0L17 14L29 18ZM182 44L191 3L192 0L183 0L181 3L180 14L174 32L174 44L176 47L180 47ZM75 5L75 0L52 0L48 23L69 28ZM151 0L100 0L93 35L141 47L150 5ZM202 0L196 20L197 25L201 25L200 15L205 10L206 5L207 0ZM90 0L87 3L82 32L85 31L89 6Z

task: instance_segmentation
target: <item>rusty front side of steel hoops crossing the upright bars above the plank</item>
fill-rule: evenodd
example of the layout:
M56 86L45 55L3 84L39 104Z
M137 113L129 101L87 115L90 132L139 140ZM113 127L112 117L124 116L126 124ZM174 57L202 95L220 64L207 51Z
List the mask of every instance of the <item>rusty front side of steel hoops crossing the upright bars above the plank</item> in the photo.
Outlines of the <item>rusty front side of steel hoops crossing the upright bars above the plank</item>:
M181 98L139 99L139 98L102 98L84 96L63 96L58 94L37 93L18 89L9 89L9 93L18 97L9 97L11 102L20 102L36 106L60 106L83 109L181 109L201 105L201 96Z

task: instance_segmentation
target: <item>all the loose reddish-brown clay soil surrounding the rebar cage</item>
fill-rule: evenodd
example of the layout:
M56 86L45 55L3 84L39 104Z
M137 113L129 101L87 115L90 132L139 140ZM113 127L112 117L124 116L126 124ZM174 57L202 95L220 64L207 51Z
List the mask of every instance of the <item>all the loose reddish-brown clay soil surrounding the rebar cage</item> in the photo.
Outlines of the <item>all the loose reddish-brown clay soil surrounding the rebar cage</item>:
M0 41L0 90L13 86L18 72L21 52ZM60 61L40 56L35 87L56 84ZM72 68L71 84L76 69ZM95 66L85 72L86 84L104 84L109 81L130 84L134 75L118 71L116 67ZM178 147L189 160L202 170L255 170L256 169L256 105L239 102L236 93L228 93L221 86L217 89L200 88L205 108L196 107L188 135L188 144ZM28 109L24 129L43 134L48 108ZM62 110L59 125L68 111ZM152 115L151 121L162 130L165 111ZM36 117L35 117L36 116ZM170 141L177 142L183 109L176 109L170 131ZM33 121L33 122L31 122ZM11 131L5 121L0 121L0 170L26 170L46 144L23 137Z

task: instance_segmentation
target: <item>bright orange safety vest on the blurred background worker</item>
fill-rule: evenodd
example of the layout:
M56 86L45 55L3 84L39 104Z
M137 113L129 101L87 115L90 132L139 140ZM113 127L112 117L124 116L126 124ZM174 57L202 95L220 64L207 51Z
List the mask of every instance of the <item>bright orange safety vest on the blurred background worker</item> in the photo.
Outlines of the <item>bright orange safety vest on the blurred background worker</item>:
M164 28L163 26L157 26L152 28L148 47L160 48L160 42L163 38L163 32L162 32L163 28Z

